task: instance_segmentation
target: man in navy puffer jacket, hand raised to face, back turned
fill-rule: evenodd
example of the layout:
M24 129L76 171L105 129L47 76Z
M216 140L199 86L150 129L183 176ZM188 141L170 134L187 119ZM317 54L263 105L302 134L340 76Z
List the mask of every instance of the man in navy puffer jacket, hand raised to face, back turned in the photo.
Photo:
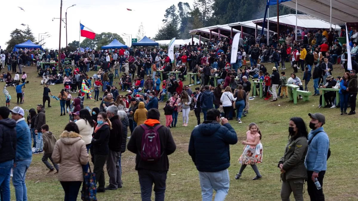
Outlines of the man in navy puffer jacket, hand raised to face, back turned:
M207 121L195 127L190 136L189 155L199 171L203 200L212 200L213 189L214 200L224 200L229 191L229 144L236 144L237 136L226 118L221 124L220 112L209 109Z

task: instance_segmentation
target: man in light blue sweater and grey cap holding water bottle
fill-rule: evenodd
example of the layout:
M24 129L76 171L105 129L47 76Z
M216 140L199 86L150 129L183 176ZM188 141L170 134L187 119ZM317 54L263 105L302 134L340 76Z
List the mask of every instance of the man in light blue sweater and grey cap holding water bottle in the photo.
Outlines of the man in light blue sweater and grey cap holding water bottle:
M327 170L327 155L329 149L329 138L327 133L323 130L325 124L325 117L321 113L309 113L311 117L310 128L312 129L308 134L308 151L305 158L305 166L307 168L307 191L314 200L323 200L323 188L317 189L315 185L315 178L323 186L324 174Z

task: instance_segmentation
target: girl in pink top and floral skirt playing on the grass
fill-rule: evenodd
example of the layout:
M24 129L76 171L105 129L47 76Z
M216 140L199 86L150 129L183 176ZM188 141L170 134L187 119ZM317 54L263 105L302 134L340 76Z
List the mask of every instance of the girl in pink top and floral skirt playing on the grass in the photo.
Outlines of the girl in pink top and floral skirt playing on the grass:
M257 180L262 177L256 166L256 163L262 163L261 131L256 123L250 123L248 128L249 131L246 132L247 139L246 141L242 141L242 144L245 144L246 146L239 158L242 165L240 172L236 174L235 178L239 179L242 171L245 170L245 167L251 165L253 171L256 173L256 177L252 180Z

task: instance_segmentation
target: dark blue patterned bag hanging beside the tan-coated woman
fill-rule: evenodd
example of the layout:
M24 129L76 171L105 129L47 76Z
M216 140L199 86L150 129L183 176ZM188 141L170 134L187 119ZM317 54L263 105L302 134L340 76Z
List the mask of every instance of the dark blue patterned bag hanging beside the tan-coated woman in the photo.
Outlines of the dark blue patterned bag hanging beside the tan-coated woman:
M83 173L81 200L97 201L96 195L97 195L96 174L92 173L91 166L89 166L89 172Z

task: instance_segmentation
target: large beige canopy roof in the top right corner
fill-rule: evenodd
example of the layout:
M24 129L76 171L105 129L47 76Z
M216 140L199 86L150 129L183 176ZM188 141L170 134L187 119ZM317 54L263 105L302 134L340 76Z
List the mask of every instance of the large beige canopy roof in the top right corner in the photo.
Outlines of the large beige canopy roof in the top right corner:
M291 0L281 3L289 8L296 9L296 1ZM330 0L299 0L297 10L316 18L330 21ZM358 4L356 0L332 1L332 24L344 24L346 22L358 22ZM298 22L297 22L298 23ZM329 28L329 26L328 26Z

